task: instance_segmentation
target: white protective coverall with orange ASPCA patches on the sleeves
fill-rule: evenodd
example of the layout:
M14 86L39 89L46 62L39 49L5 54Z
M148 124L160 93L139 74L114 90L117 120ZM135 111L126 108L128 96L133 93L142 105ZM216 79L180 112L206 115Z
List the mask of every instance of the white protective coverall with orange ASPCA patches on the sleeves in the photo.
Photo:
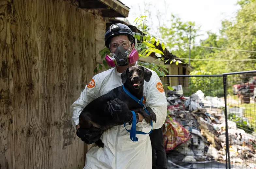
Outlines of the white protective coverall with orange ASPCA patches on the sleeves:
M153 121L153 128L158 129L166 120L167 100L160 78L155 71L149 70L152 76L149 82L144 81L143 104L155 112L156 123ZM121 85L121 73L116 67L95 75L71 106L73 126L79 123L78 117L88 103ZM126 128L131 130L131 126L127 123ZM151 125L144 119L136 124L136 130L149 133ZM136 137L138 141L133 142L123 125L104 131L101 136L104 148L93 143L86 154L84 169L151 169L152 148L149 134L136 134Z

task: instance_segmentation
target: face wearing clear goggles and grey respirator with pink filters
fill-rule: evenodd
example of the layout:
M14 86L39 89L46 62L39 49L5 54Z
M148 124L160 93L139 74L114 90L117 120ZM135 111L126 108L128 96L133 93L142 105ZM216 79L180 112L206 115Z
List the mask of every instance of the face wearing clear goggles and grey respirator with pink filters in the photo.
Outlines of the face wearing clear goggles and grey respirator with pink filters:
M115 52L110 52L106 55L105 60L110 67L116 65L126 66L130 63L135 63L139 59L139 54L136 49L129 49L131 42L123 40L120 43L112 42L109 44L110 49L115 49Z

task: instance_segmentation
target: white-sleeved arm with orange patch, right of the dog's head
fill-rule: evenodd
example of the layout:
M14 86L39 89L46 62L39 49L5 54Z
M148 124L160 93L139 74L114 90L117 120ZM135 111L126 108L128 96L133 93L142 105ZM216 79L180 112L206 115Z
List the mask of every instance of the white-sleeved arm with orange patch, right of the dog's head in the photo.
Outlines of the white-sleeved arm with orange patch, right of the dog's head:
M151 107L156 115L156 122L153 122L153 129L159 129L163 126L167 116L167 99L161 83L160 78L157 74L152 71L152 76L149 82L145 82L145 98L146 107ZM143 120L142 120L143 119ZM139 115L139 121L136 126L138 127L149 127L150 124L145 121L143 116Z

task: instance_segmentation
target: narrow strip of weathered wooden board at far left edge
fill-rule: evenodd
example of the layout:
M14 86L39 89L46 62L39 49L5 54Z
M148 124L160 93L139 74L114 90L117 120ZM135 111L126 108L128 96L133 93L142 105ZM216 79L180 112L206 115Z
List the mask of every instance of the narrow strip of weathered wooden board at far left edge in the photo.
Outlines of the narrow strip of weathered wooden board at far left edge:
M0 1L0 168L14 168L12 12Z

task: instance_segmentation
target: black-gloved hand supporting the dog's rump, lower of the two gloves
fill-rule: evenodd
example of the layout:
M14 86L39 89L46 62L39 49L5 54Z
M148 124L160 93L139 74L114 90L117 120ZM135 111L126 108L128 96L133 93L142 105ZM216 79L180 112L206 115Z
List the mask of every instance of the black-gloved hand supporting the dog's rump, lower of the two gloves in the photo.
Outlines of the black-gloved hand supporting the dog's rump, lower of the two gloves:
M101 137L102 130L96 127L90 127L89 129L78 128L76 135L81 138L86 144L92 144L98 141Z

